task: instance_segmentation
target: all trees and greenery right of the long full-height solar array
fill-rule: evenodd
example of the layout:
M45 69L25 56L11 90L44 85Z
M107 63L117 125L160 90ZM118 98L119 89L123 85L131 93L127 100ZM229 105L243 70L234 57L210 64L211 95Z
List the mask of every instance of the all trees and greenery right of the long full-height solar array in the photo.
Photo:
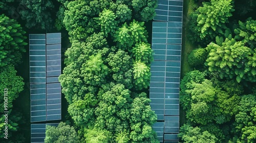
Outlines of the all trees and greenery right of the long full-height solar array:
M244 6L249 13L254 2L239 3L188 5L188 37L198 48L184 54L190 71L180 84L183 142L255 142L255 20L234 13Z

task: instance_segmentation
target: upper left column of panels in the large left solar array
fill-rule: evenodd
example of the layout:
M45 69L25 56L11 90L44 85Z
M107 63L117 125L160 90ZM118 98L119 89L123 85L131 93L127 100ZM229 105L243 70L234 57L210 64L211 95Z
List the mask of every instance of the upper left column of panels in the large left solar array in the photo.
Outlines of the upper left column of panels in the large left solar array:
M45 34L29 35L30 83L46 82Z

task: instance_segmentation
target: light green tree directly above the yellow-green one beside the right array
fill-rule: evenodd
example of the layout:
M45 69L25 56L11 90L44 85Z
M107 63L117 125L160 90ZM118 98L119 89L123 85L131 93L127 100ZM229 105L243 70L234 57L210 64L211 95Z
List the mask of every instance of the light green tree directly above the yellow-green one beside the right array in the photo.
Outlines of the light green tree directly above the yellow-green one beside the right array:
M138 43L132 49L132 55L135 56L135 61L140 61L146 65L150 65L153 59L153 50L148 43Z

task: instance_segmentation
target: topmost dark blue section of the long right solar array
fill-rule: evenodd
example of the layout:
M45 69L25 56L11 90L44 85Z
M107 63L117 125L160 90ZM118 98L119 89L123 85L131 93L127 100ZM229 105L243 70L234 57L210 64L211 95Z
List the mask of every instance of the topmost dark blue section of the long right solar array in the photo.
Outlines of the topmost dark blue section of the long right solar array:
M154 20L182 22L182 11L183 0L158 0Z

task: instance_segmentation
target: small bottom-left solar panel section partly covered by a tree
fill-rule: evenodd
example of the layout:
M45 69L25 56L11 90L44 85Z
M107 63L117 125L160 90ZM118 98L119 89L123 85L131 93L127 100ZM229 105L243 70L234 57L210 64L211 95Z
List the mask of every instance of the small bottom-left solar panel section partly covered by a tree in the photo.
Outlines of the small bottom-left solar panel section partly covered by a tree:
M31 124L31 143L45 142L46 126L57 127L59 123Z

